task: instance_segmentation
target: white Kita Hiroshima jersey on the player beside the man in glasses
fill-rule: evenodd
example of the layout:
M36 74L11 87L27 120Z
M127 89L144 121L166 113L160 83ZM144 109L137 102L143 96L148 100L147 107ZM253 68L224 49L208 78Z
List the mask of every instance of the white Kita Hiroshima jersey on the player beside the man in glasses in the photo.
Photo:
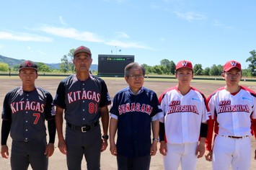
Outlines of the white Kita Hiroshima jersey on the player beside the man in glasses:
M184 96L177 87L164 91L159 98L167 143L194 143L200 138L201 122L208 120L206 97L191 87Z

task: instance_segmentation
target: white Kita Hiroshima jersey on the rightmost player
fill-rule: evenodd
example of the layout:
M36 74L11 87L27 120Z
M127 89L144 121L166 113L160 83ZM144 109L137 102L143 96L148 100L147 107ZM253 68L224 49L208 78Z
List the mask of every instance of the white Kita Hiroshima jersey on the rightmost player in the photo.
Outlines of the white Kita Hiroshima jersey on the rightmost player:
M252 135L251 119L256 119L256 94L251 89L241 86L240 91L231 94L221 87L208 97L208 107L212 119L219 124L216 134Z

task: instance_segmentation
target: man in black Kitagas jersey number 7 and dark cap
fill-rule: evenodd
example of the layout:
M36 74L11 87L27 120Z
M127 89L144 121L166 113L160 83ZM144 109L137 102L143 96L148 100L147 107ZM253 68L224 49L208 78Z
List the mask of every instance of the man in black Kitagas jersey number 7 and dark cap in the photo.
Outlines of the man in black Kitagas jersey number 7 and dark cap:
M22 86L10 91L4 98L1 127L1 156L9 158L6 141L12 137L12 170L48 169L48 157L53 155L56 135L53 97L35 86L37 65L23 61L19 66ZM46 142L45 120L48 120L49 143Z

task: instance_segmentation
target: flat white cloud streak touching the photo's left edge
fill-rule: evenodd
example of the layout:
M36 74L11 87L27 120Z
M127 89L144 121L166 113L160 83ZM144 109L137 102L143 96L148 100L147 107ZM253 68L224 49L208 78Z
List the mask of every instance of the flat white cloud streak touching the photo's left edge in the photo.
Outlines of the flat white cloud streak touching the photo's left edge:
M31 35L22 32L0 32L0 40L52 42L52 39L50 37Z

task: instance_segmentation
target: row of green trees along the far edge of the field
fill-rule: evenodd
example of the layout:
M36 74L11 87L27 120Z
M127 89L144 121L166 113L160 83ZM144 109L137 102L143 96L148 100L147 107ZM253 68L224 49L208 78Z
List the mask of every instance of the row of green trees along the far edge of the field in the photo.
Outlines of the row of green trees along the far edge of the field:
M45 63L38 62L38 70L40 72L46 73L74 73L75 67L73 64L73 53L74 49L69 50L69 53L63 55L61 58L60 69L53 70ZM247 58L246 62L250 62L248 68L242 70L243 76L252 77L256 76L256 51L250 51L250 57ZM174 75L176 65L173 61L168 59L163 59L160 61L160 65L148 66L146 63L142 64L146 69L146 74L157 74L157 75ZM206 67L203 69L203 66L198 63L193 66L194 74L198 76L220 76L223 71L223 66L213 64L211 67ZM0 71L19 71L19 65L9 68L7 63L0 63ZM93 71L94 73L97 71Z

